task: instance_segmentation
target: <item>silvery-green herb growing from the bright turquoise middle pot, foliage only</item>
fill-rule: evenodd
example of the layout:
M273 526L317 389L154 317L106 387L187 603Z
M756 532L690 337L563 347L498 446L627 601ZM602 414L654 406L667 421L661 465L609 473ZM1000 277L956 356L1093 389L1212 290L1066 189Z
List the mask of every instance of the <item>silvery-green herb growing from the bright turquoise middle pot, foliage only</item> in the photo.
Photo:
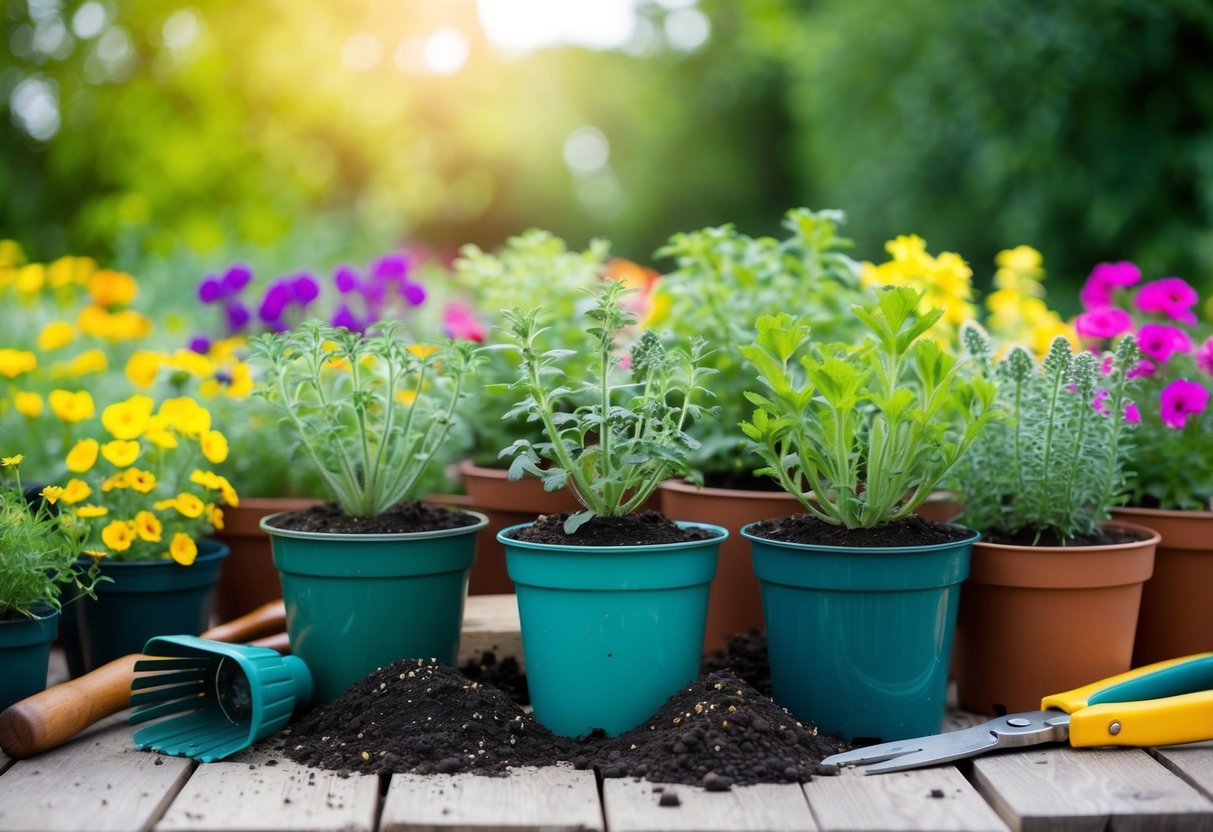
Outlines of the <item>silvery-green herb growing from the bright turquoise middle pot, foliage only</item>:
M638 508L676 473L689 474L688 457L697 443L685 432L689 420L704 415L700 397L712 370L704 367L706 344L700 338L687 349L667 349L655 332L644 332L630 355L630 377L616 354L620 332L633 323L620 304L627 289L604 280L586 312L590 326L579 329L582 349L542 349L545 327L540 309L505 314L509 335L522 357L518 378L507 389L524 398L507 418L525 416L543 431L542 441L516 439L501 451L512 457L509 478L531 474L554 491L568 485L586 508L565 520L574 534L594 515L619 517ZM587 341L588 336L588 341ZM569 367L581 366L582 376ZM568 401L585 400L571 410ZM548 467L540 467L547 462Z

